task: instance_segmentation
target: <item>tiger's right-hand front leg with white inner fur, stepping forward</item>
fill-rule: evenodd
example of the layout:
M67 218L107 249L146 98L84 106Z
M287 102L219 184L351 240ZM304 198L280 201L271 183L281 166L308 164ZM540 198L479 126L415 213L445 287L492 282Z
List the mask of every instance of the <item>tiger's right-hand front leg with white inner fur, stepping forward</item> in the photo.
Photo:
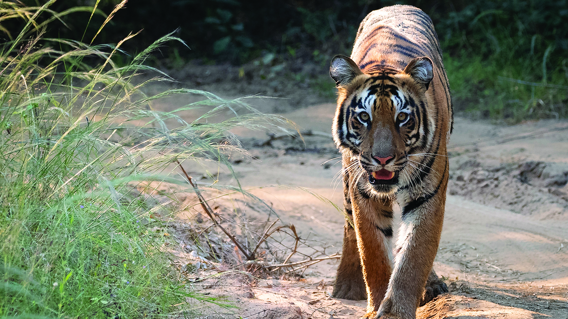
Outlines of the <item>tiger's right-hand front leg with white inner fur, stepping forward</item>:
M416 308L440 243L444 203L445 187L420 205L413 201L403 206L389 288L375 319L416 318ZM405 209L408 207L411 209Z

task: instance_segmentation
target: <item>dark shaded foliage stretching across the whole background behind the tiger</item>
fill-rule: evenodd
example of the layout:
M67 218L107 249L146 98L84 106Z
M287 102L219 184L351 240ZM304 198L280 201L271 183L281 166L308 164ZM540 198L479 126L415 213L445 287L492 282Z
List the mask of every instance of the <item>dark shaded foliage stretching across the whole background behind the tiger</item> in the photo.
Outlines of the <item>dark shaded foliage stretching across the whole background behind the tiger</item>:
M95 2L57 1L51 8ZM118 2L102 0L98 7L108 14ZM135 53L178 30L189 48L162 49L164 61L176 61L173 66L194 59L241 65L275 54L288 65L315 62L326 73L333 54L350 53L361 19L396 3L420 7L432 17L458 110L512 121L568 115L566 0L131 0L95 43L117 43L142 30L123 45ZM104 19L95 15L86 28L89 14L69 15L66 25L47 33L89 42Z

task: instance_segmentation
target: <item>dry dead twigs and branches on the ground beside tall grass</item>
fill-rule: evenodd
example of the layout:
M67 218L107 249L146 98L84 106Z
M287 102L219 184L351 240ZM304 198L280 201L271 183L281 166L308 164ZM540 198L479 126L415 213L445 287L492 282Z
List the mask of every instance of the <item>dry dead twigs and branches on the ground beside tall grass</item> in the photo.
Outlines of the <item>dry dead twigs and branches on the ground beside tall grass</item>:
M323 242L310 239L310 235L306 238L299 236L294 225L283 224L279 219L270 220L270 216L272 213L275 215L275 212L264 202L255 207L253 203L231 199L232 204L243 203L247 211L256 212L257 216L258 213L268 213L266 220L251 220L240 208L233 207L231 210L227 205L210 204L211 200L204 197L203 191L181 163L176 163L197 196L196 205L201 206L204 216L212 223L202 221L197 225L177 228L179 232L186 232L177 236L184 243L193 241L193 244L186 245L186 253L203 255L199 257L200 267L206 267L204 260L212 259L213 262L226 263L229 266L243 265L246 268L244 270L260 276L286 276L294 275L300 270L305 271L315 263L340 258L337 253L328 255L325 252L328 247Z

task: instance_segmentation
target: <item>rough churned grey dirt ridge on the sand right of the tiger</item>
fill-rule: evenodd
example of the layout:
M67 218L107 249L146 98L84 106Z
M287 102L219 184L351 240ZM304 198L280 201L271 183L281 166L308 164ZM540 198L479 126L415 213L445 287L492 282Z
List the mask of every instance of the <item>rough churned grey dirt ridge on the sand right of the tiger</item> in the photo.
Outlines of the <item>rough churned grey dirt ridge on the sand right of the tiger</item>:
M542 161L484 165L472 157L450 160L450 195L542 219L568 218L568 164Z

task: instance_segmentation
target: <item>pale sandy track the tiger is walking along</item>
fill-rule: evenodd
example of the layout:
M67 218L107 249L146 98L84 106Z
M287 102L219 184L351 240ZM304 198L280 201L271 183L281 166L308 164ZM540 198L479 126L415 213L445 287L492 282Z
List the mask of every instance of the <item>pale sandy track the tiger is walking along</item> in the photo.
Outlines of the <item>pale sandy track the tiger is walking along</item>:
M255 103L265 112L286 109L278 100ZM154 107L172 104L178 103ZM233 158L240 182L307 187L342 207L341 163L331 140L335 104L287 110L281 114L316 134L269 141L264 132L235 132L256 158ZM435 270L450 293L419 308L417 318L568 318L568 121L501 126L457 117L449 150L452 175ZM228 174L218 178L234 182ZM344 217L331 204L286 187L253 193L300 236L317 238L328 254L341 252ZM201 318L358 318L366 301L330 297L337 263L320 262L300 279L203 280L194 285L200 292L239 308L196 307Z

